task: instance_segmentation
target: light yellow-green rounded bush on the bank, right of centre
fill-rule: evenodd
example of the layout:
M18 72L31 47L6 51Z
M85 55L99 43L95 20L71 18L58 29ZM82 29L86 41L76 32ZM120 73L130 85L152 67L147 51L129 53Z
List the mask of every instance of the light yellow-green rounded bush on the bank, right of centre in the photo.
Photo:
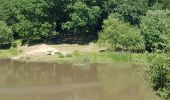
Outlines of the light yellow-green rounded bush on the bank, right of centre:
M144 40L140 30L119 20L113 14L104 21L98 42L114 51L144 51Z

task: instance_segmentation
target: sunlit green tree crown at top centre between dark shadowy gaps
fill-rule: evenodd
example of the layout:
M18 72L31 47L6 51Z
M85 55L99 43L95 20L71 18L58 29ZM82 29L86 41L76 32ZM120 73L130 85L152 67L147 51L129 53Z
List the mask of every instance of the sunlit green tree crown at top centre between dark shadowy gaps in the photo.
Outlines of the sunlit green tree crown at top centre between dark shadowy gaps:
M88 6L85 2L77 0L66 7L69 13L68 21L62 24L63 29L72 30L74 33L89 33L94 30L100 16L99 6Z

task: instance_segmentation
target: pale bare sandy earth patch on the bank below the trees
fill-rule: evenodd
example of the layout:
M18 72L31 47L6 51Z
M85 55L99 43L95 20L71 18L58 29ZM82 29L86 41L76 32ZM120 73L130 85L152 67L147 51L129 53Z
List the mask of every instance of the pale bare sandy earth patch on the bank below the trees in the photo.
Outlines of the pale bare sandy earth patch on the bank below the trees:
M105 48L100 48L95 44L89 45L78 45L78 44L60 44L60 45L47 45L39 44L34 46L21 46L19 47L22 50L22 53L12 59L19 59L21 57L30 57L30 56L43 56L43 55L52 55L55 53L61 53L63 55L71 54L75 51L79 52L99 52ZM50 54L49 54L50 53Z

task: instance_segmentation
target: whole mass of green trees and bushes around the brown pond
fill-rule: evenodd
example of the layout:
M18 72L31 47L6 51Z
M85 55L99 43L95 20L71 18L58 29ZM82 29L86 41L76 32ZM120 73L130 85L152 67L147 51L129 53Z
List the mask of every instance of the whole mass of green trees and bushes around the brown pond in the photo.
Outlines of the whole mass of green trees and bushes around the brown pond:
M18 40L95 42L109 51L154 54L150 80L170 98L170 0L0 0L0 48Z

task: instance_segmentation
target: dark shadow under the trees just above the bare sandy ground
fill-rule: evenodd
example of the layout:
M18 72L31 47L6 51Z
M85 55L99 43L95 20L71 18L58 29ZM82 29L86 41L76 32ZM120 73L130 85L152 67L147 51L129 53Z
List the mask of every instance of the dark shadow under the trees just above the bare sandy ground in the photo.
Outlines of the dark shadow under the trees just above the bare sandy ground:
M50 38L44 38L41 40L36 40L33 42L30 42L28 45L36 45L36 44L79 44L79 45L85 45L89 44L90 42L96 42L98 40L98 35L97 34L87 34L87 35L82 35L82 34L60 34L55 37L50 37Z

